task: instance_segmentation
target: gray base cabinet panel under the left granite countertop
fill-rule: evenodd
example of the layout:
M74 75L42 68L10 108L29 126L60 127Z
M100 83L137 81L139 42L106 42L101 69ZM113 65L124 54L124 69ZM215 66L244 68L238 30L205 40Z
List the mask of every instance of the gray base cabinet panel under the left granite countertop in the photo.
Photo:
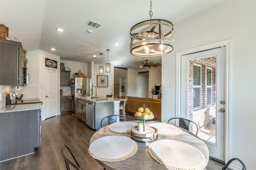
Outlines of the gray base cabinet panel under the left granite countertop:
M39 147L40 111L0 113L0 161L33 153Z

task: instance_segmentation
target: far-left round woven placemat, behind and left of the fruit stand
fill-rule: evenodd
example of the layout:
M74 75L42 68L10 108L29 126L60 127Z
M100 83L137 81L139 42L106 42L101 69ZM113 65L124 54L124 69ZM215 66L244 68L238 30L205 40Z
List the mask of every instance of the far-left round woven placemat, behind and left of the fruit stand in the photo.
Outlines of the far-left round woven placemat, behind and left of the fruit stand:
M119 121L112 123L108 126L108 129L115 133L131 133L132 127L136 126L137 123L128 121Z

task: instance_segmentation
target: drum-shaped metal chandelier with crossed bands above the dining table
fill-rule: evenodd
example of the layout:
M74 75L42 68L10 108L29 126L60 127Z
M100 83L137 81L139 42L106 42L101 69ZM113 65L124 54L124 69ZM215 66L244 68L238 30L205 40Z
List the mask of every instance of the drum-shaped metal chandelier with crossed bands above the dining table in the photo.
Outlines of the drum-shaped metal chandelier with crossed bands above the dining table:
M174 49L174 27L170 21L152 20L152 0L150 0L150 20L137 23L130 29L130 53L138 57L166 55Z

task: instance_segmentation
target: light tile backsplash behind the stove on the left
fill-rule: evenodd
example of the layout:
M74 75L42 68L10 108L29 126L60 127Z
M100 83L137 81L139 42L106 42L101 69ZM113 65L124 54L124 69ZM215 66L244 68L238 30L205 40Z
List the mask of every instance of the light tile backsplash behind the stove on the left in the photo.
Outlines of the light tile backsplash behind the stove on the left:
M0 107L6 105L6 92L16 92L22 98L39 98L38 86L19 86L21 90L15 90L15 86L0 86Z

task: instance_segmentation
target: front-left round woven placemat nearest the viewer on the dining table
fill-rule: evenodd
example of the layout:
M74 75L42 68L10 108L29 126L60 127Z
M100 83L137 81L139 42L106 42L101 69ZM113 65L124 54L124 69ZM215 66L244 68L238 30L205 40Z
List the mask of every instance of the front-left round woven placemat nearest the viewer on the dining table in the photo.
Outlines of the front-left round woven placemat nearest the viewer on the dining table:
M90 144L89 154L100 161L118 162L130 158L137 150L137 143L129 137L105 136Z

